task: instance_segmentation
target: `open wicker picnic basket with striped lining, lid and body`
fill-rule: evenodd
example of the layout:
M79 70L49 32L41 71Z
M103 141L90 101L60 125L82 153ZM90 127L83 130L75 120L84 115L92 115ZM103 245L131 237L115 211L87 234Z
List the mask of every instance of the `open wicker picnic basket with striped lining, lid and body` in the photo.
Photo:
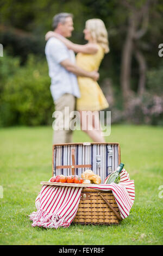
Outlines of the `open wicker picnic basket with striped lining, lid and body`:
M64 143L53 145L52 176L79 176L91 169L101 176L102 184L106 176L121 162L119 143ZM78 211L73 223L78 224L118 224L122 220L117 203L111 191L83 187Z

